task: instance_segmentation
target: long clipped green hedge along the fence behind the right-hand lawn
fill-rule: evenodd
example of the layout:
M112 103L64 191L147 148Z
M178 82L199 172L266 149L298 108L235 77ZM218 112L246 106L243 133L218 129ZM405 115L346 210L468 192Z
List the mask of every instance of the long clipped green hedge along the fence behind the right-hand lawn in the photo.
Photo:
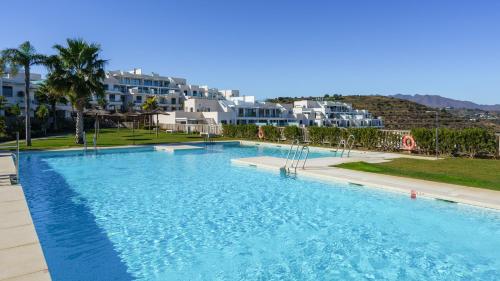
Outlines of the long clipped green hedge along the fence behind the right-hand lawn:
M256 125L224 125L223 132L227 137L257 139L258 126ZM280 129L275 126L262 126L264 139L279 141ZM313 145L338 145L341 139L350 135L355 138L356 148L399 151L401 135L391 131L376 128L337 128L337 127L307 127L303 130L297 126L287 126L283 129L283 136L288 140L303 139L306 131L308 139ZM467 155L469 157L490 156L496 152L496 139L492 131L482 128L468 129L439 129L439 154ZM423 154L435 153L435 129L416 128L411 135L417 144L417 151Z

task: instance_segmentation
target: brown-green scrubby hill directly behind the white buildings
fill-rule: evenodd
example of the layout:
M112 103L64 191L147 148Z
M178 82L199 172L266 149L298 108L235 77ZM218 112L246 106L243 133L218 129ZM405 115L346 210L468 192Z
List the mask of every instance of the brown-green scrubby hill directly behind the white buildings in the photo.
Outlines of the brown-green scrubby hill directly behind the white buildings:
M279 97L270 102L292 103L295 100L318 99L318 97ZM388 96L325 96L322 100L340 101L352 104L354 109L367 109L375 117L382 117L386 129L411 129L417 127L434 128L435 115L427 111L435 110L413 101ZM472 121L447 111L439 111L439 125L449 128L497 127L483 121Z

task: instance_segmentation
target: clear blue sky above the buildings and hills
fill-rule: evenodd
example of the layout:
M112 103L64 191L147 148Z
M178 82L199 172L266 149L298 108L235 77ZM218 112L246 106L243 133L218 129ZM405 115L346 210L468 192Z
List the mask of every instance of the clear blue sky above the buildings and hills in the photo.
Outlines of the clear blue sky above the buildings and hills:
M81 37L108 69L259 98L439 94L500 103L500 1L6 1L0 49Z

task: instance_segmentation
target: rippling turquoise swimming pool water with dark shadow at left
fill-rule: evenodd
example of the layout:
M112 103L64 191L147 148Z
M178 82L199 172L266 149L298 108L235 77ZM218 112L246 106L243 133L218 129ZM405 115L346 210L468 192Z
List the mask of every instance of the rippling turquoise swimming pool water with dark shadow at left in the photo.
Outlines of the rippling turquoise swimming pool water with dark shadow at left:
M21 183L53 280L499 279L498 212L230 162L283 153L31 153Z

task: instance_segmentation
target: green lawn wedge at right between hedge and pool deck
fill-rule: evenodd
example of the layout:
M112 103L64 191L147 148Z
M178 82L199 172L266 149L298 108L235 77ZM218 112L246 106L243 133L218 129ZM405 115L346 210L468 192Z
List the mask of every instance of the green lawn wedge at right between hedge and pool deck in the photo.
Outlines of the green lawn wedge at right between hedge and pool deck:
M399 158L386 163L353 162L336 167L500 191L499 160L447 158L431 161Z

